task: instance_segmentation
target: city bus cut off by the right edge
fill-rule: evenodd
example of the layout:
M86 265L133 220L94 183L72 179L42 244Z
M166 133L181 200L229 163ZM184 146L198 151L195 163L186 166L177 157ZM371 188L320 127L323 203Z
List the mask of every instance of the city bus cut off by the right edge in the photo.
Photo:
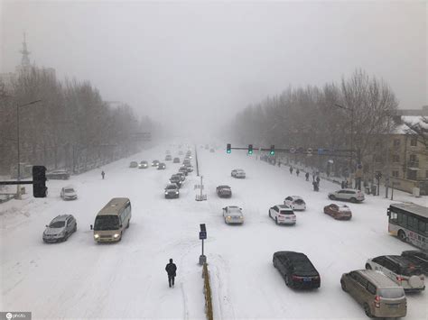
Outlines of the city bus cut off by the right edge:
M428 208L412 203L393 204L387 209L388 232L403 242L428 250Z

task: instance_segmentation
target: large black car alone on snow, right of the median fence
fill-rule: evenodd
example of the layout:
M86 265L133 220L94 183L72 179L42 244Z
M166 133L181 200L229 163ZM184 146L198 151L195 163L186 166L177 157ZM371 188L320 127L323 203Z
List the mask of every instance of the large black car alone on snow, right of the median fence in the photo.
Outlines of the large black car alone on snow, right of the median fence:
M312 262L301 252L274 252L274 268L283 276L287 287L320 288L321 278Z

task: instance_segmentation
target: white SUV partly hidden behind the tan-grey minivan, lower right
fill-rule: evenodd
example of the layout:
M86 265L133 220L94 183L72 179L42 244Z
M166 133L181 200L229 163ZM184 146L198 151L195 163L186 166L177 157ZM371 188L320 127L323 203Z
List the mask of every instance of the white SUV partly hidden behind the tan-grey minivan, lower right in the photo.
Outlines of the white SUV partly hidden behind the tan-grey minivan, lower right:
M379 256L368 259L367 270L381 271L405 291L422 291L425 289L423 271L414 262L399 255Z

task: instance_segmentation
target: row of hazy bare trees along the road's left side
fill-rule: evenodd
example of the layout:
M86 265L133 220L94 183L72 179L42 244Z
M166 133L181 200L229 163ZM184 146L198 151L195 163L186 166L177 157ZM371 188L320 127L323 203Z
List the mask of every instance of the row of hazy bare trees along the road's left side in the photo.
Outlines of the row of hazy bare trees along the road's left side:
M125 157L141 148L142 132L156 130L149 118L137 119L129 105L103 101L88 81L60 82L44 69L0 83L0 105L1 174L17 164L17 112L20 161L48 169L77 172Z

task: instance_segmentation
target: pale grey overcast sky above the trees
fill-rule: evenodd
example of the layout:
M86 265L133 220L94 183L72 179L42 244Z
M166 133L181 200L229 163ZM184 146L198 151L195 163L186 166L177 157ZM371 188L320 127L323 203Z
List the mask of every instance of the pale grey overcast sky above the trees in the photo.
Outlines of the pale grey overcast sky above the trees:
M20 63L26 32L38 66L183 128L356 68L384 78L400 108L428 105L426 1L0 2L0 72Z

